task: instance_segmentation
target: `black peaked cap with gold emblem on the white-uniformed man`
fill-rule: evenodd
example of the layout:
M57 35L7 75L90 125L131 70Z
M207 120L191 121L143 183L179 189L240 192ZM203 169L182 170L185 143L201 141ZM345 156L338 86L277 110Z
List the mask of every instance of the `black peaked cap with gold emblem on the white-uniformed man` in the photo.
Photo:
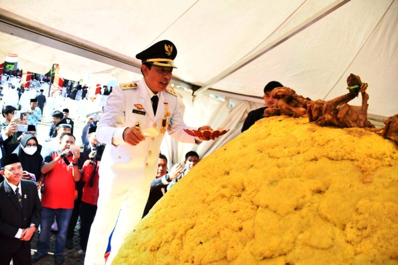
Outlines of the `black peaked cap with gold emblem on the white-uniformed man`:
M173 60L177 56L177 48L173 42L169 40L161 40L148 49L138 53L135 58L141 60L142 63L148 63L159 67L177 68Z

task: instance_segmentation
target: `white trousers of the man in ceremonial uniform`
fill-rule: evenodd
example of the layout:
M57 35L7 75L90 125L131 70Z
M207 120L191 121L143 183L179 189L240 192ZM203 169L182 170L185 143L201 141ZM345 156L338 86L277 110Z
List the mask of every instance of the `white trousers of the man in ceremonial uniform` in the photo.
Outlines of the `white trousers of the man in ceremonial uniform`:
M100 197L87 245L85 265L104 265L108 238L116 223L110 241L111 252L106 264L111 264L124 239L141 220L148 192L100 185ZM119 214L120 211L120 214ZM117 218L117 216L119 216Z

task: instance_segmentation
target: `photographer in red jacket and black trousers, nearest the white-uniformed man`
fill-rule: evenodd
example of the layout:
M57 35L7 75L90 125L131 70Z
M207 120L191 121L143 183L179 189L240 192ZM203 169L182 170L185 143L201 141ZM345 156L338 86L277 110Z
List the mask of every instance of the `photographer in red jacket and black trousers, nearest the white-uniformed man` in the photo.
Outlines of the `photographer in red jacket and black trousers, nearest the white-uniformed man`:
M73 254L73 258L79 259L85 256L87 249L87 242L89 241L89 234L91 225L97 212L97 201L100 195L98 187L99 175L98 169L104 144L98 144L94 149L93 158L87 160L83 165L82 180L86 182L83 188L82 203L80 206L80 250Z

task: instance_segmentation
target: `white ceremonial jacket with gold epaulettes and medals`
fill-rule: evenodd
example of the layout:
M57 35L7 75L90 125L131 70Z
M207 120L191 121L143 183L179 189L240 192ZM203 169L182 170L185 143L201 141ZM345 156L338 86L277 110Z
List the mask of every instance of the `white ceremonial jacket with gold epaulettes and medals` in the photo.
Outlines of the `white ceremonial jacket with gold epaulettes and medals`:
M106 144L99 169L102 184L149 192L157 173L159 148L165 132L178 141L195 143L195 138L183 130L193 128L183 121L176 92L168 88L158 96L155 116L144 79L113 88L96 131L98 141ZM152 127L160 133L145 137L145 141L136 146L125 143L123 131L137 123L141 131Z

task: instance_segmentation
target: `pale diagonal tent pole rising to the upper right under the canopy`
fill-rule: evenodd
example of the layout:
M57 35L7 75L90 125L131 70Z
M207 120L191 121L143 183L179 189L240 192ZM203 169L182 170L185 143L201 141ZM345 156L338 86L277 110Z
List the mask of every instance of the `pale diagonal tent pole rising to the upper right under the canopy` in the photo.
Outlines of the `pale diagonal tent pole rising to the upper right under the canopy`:
M321 18L325 17L326 15L332 13L334 10L338 9L339 7L343 6L350 0L335 0L333 3L329 4L307 20L303 21L301 24L298 26L294 27L290 31L286 32L276 40L272 41L271 43L265 45L262 49L260 49L258 52L247 56L246 58L243 58L242 60L238 61L231 67L227 68L225 71L221 72L219 75L215 76L212 78L209 82L204 84L201 88L196 90L194 94L202 93L203 91L207 90L210 88L212 85L216 84L220 80L225 79L226 77L230 76L231 74L235 73L239 69L243 68L247 64L251 63L252 61L256 60L257 58L261 57L262 55L268 53L269 51L273 50L274 48L278 47L285 41L289 40L305 28L309 27L313 23L317 22Z

